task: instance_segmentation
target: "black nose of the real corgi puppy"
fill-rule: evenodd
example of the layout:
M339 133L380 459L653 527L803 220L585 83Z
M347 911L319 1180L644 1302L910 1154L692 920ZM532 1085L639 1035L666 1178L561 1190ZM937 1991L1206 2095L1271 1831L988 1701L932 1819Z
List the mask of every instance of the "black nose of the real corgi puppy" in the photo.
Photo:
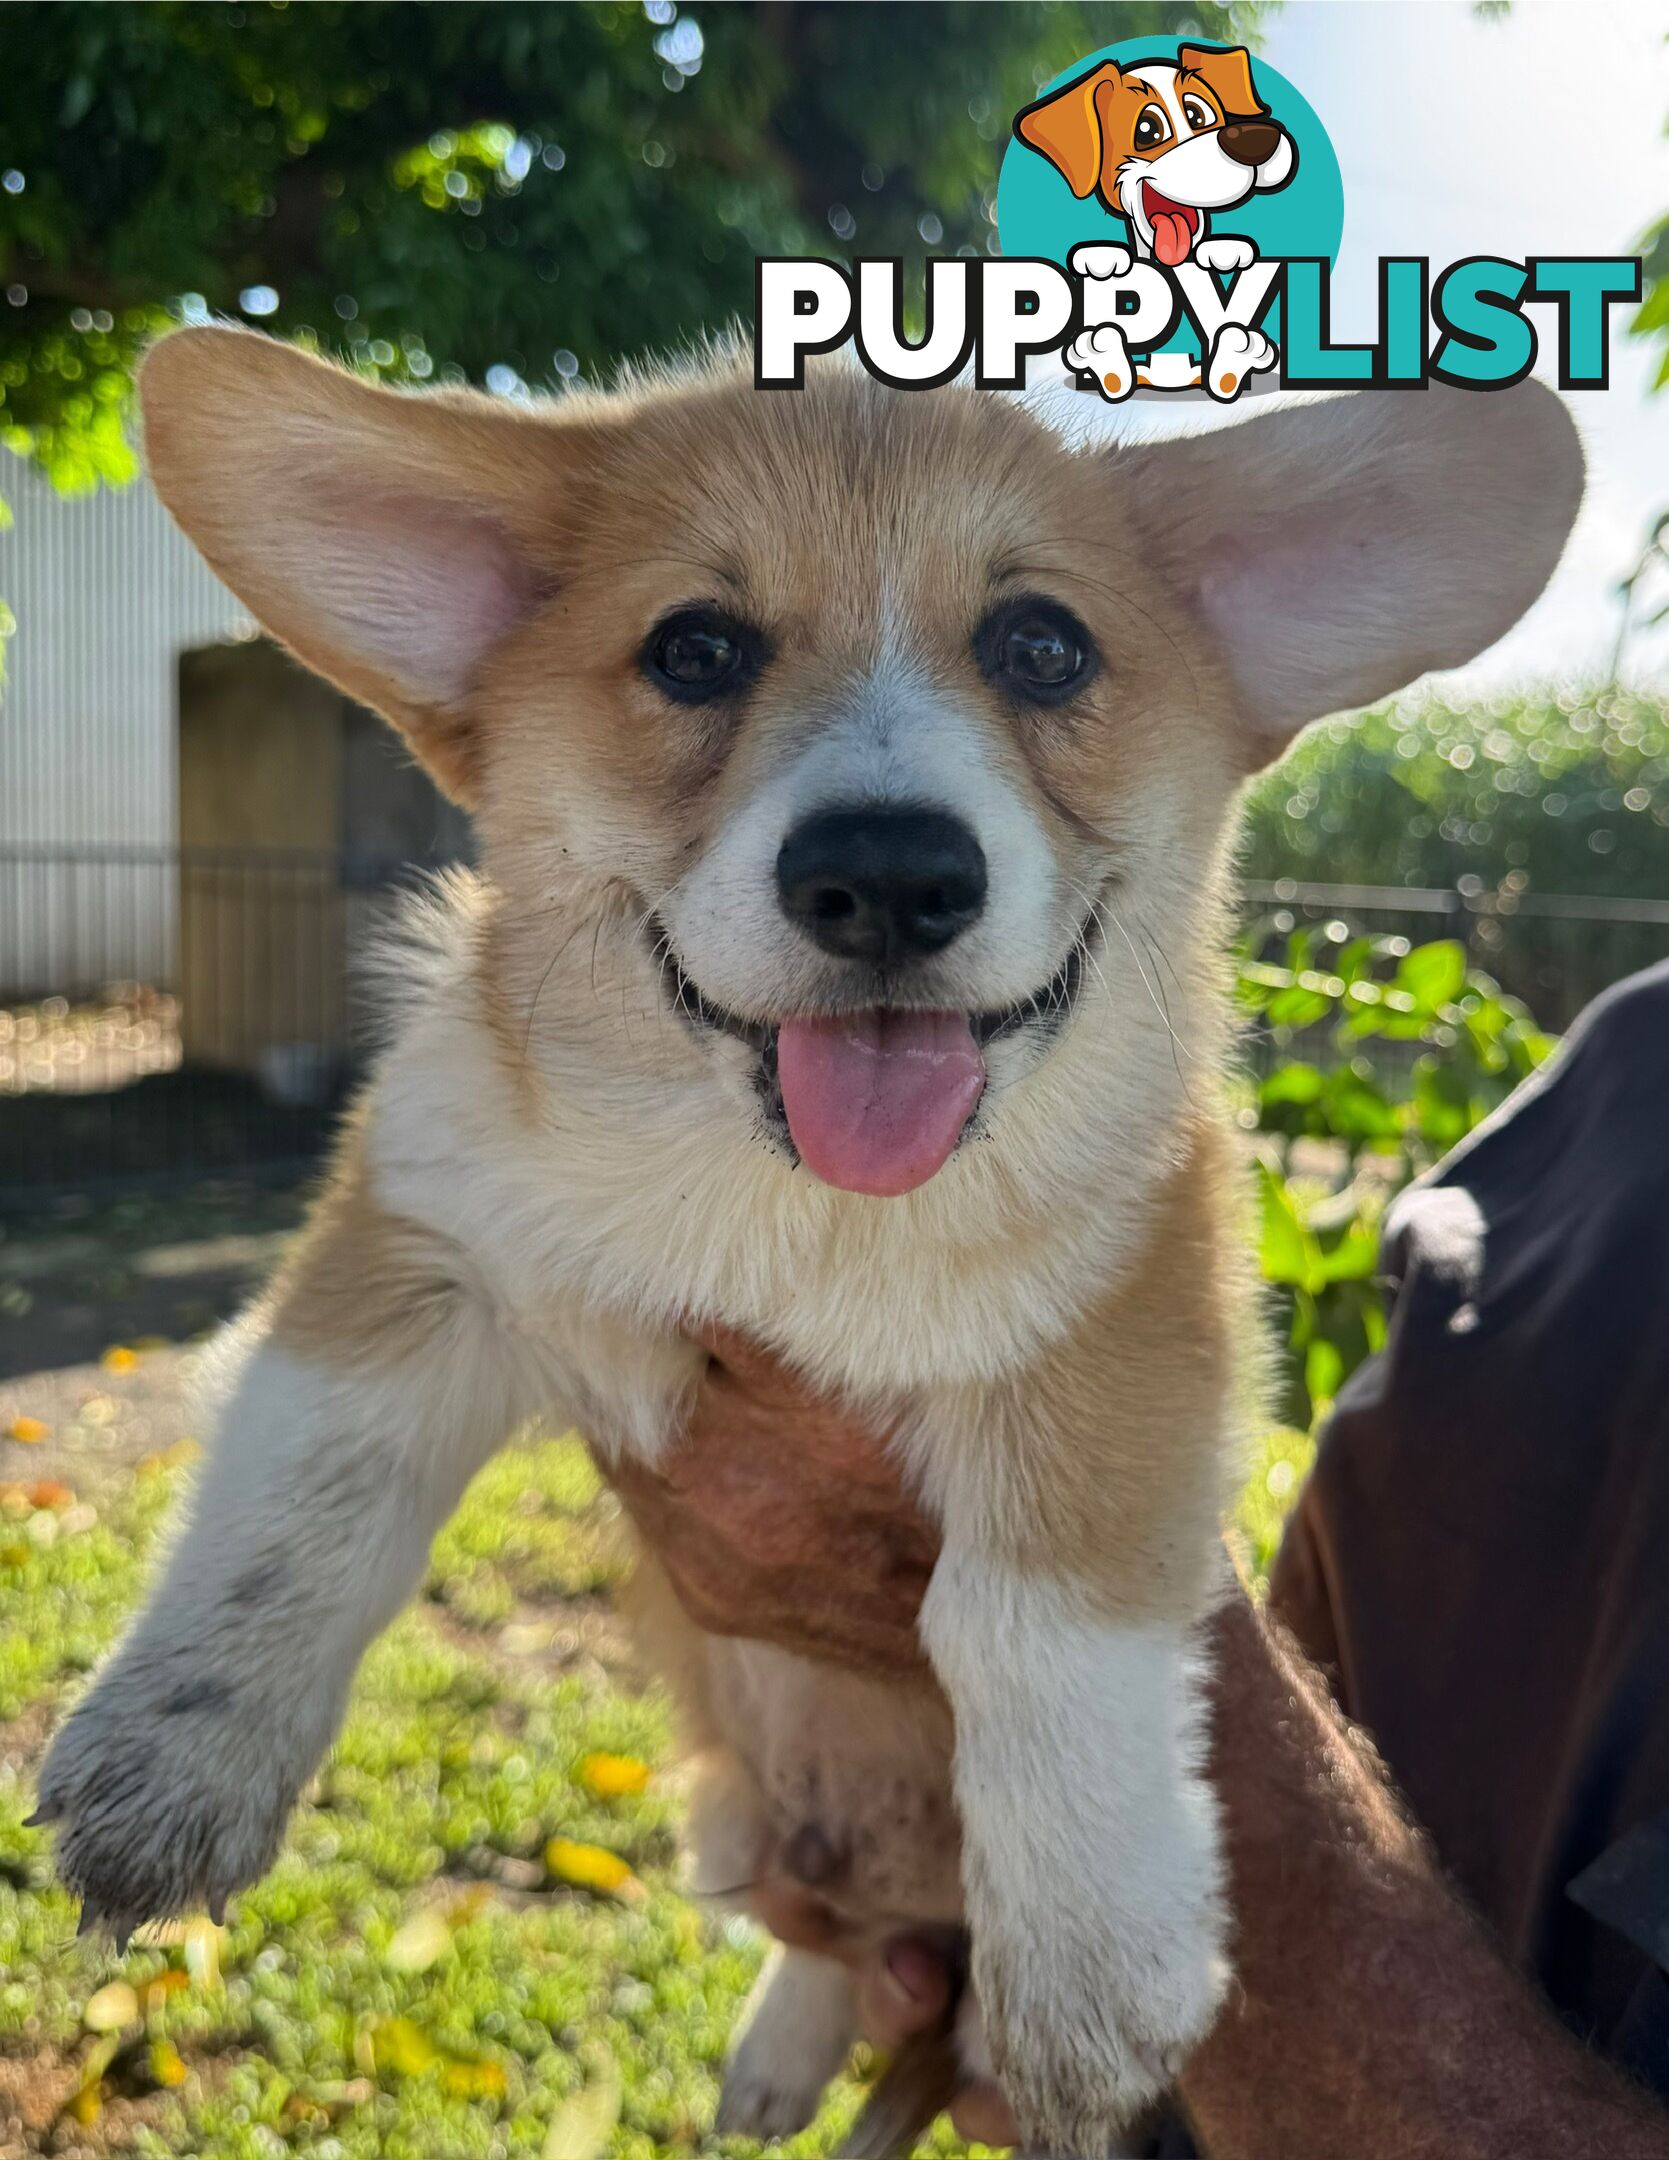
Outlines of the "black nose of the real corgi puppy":
M941 953L985 907L985 851L941 810L820 810L777 855L790 922L838 959Z

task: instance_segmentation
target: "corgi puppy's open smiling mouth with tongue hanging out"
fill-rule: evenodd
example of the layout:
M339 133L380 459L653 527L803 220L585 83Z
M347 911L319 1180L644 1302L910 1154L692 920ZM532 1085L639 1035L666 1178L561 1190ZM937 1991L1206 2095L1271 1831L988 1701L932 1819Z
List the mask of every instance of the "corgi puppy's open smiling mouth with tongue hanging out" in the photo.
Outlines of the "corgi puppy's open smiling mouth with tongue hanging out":
M689 1026L730 1035L756 1052L766 1121L786 1128L810 1171L849 1192L898 1194L926 1184L954 1153L985 1093L987 1048L1026 1028L1064 1026L1097 920L1095 912L1084 918L1067 959L1041 989L989 1013L872 1004L855 1013L743 1020L702 994L659 920L650 922L650 948Z

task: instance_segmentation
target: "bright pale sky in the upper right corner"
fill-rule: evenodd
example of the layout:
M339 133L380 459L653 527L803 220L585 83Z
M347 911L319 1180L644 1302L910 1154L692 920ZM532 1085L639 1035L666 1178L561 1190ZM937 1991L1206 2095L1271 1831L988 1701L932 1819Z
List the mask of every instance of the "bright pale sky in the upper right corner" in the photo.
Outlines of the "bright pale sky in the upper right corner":
M1514 0L1498 17L1464 0L1287 0L1267 17L1259 52L1315 106L1343 168L1334 339L1373 337L1380 255L1438 268L1464 255L1630 253L1669 210L1667 30L1663 0ZM1531 313L1552 328L1552 309ZM1609 665L1615 581L1669 508L1669 387L1650 395L1660 348L1621 335L1624 322L1619 307L1611 389L1570 400L1589 492L1559 575L1468 678ZM1140 432L1200 426L1192 402L1166 417L1123 413ZM1669 577L1654 598L1669 600ZM1628 672L1669 680L1669 624Z

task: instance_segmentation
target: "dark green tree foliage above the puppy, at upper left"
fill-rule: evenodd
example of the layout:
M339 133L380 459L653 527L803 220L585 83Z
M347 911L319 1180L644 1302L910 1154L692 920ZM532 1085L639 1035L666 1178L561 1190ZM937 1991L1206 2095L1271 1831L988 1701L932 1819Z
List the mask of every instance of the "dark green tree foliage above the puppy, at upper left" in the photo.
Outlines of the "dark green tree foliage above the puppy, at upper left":
M1015 108L1254 6L22 4L0 69L0 441L132 471L132 363L244 315L395 380L589 374L769 253L985 248Z

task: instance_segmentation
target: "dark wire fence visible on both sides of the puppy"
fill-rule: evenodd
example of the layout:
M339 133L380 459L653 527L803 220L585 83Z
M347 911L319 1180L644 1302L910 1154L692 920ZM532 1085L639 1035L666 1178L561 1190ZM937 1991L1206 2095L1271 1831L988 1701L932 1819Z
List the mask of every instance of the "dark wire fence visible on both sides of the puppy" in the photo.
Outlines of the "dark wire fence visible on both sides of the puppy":
M0 1210L48 1194L296 1175L371 1039L369 955L423 873L339 853L0 849ZM1246 890L1252 942L1300 924L1460 937L1559 1030L1669 957L1669 903L1514 890Z

